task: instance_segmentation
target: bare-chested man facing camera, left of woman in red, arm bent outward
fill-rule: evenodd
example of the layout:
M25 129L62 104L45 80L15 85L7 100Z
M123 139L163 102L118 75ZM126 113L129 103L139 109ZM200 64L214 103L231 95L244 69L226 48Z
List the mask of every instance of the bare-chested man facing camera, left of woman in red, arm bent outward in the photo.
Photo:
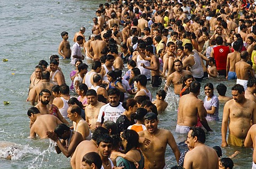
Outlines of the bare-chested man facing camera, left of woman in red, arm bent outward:
M180 60L174 60L174 69L175 72L169 75L166 81L166 85L164 87L165 91L168 90L168 87L173 83L174 86L174 93L180 95L180 91L182 89L182 80L183 77L187 74L192 74L190 71L182 69L182 62Z

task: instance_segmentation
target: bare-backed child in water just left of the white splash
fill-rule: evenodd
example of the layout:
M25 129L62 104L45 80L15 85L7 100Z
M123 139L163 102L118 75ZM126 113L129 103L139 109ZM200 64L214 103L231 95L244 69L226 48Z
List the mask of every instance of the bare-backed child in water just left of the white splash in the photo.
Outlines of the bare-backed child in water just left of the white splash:
M164 111L168 106L168 103L165 102L166 92L164 90L158 90L156 92L156 99L152 102L157 107L157 112Z

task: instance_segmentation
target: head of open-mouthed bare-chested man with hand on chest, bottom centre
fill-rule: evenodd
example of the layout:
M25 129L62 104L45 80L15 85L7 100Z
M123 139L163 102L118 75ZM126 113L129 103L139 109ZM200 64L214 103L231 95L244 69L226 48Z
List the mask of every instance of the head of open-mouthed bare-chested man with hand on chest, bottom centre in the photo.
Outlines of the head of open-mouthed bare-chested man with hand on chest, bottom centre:
M149 133L154 133L157 130L158 119L157 115L153 112L149 112L144 116L145 126Z

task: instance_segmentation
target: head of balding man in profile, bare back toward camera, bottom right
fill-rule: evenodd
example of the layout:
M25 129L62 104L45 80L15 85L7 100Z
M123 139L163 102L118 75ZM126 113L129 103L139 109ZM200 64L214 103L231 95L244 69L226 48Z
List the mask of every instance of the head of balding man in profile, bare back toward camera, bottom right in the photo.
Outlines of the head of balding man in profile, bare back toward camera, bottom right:
M205 132L202 128L191 128L188 132L187 141L191 148L195 148L196 143L205 142Z

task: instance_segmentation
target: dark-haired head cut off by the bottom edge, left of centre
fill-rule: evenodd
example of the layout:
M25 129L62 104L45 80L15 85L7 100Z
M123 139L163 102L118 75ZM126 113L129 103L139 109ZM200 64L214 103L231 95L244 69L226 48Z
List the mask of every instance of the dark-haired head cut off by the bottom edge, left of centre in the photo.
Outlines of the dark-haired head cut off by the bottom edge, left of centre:
M101 166L102 160L98 153L90 152L84 155L81 169L100 169Z

